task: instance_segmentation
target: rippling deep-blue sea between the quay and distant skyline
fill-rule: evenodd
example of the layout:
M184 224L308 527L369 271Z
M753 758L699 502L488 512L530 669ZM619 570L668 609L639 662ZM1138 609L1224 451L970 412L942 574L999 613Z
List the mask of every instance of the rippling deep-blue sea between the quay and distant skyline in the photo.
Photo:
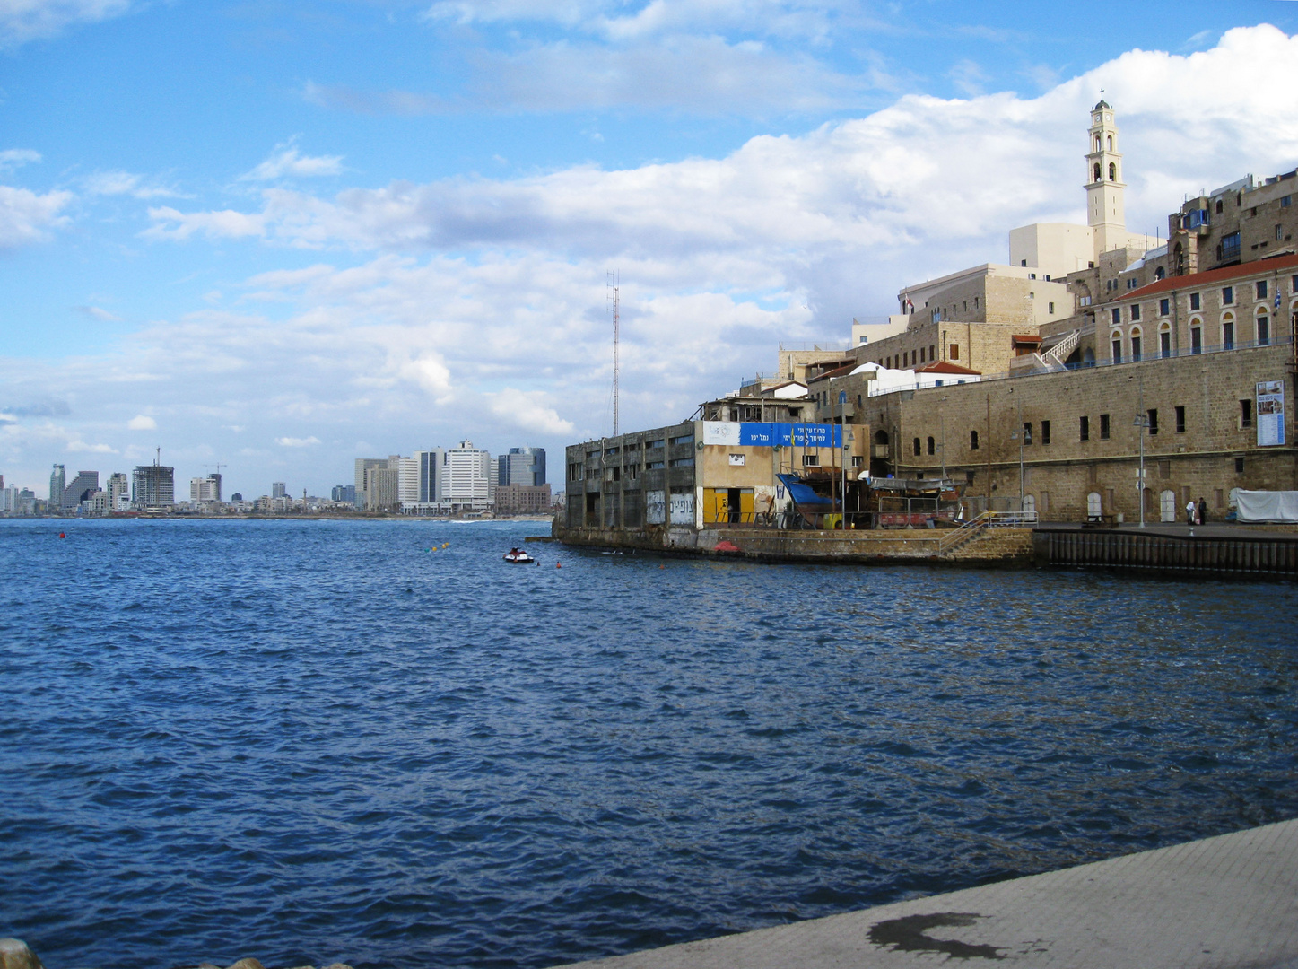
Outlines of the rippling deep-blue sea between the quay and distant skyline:
M540 969L1298 816L1294 585L546 527L0 522L0 935Z

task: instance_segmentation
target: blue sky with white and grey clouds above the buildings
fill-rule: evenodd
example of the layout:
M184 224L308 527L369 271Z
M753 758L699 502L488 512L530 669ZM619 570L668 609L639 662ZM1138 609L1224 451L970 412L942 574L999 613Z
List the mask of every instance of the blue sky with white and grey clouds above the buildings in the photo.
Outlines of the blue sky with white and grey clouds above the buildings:
M688 418L897 291L1298 165L1298 3L0 0L0 474ZM557 479L557 481L556 481Z

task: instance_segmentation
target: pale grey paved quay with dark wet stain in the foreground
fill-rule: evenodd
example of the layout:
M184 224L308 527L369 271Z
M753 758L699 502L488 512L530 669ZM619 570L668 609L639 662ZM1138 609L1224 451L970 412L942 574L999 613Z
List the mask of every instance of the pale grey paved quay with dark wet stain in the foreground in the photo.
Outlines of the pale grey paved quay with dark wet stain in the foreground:
M583 969L1298 969L1298 820Z

